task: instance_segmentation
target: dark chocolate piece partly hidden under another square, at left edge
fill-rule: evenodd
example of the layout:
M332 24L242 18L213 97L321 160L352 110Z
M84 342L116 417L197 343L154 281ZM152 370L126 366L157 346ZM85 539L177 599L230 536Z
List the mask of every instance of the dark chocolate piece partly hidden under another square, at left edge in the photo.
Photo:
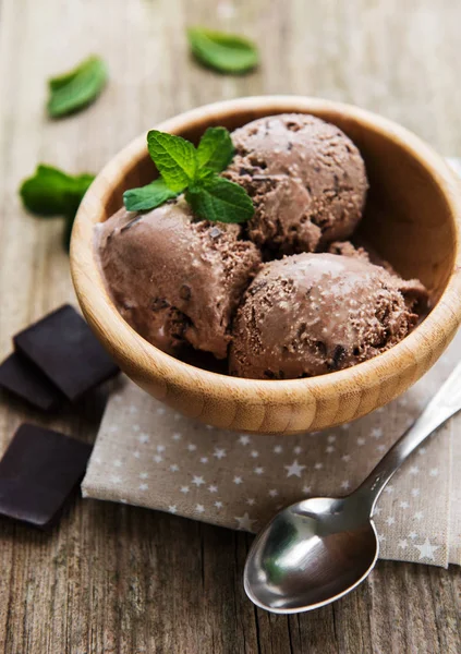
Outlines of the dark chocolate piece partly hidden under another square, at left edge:
M57 409L63 395L29 361L10 354L0 365L0 386L43 411Z

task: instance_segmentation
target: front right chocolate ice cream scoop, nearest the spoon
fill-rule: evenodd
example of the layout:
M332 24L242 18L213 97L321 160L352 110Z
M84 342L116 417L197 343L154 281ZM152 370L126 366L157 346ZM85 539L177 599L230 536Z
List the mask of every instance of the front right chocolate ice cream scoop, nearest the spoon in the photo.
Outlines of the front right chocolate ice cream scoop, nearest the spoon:
M416 324L414 288L424 290L362 256L304 253L265 264L234 320L230 372L290 379L376 356Z

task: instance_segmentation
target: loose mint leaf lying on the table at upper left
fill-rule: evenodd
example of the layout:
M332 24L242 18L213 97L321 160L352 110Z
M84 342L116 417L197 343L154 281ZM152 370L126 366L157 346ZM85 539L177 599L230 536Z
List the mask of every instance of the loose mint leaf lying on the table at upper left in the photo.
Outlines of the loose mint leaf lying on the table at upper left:
M48 81L48 113L61 118L90 105L101 93L108 77L102 59L88 57L74 70Z

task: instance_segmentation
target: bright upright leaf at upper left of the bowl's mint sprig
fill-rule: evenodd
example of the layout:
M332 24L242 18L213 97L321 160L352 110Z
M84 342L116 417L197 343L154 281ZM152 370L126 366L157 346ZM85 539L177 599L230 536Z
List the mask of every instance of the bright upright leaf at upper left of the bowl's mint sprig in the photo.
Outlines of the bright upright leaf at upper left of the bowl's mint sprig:
M180 193L194 180L196 150L190 141L157 130L147 134L147 148L165 183Z

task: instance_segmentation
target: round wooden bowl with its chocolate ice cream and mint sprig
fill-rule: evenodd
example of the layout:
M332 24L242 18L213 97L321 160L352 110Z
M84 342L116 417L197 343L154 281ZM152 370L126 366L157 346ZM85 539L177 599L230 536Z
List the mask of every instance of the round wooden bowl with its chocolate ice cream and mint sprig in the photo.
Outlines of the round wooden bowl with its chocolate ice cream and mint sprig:
M157 399L232 431L318 431L398 397L450 342L460 222L454 174L400 125L241 98L153 126L104 168L72 276Z

